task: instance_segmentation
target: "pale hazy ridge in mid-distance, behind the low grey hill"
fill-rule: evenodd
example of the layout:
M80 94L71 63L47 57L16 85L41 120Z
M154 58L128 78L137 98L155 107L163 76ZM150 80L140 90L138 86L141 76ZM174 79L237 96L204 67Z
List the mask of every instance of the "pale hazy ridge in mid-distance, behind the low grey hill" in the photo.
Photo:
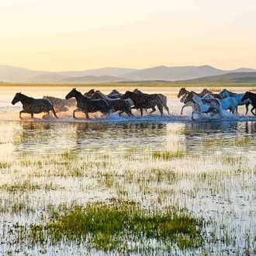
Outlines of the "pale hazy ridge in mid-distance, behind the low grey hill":
M96 77L102 75L109 75L112 77L122 77L123 74L137 71L134 68L123 68L123 67L102 67L99 69L91 69L88 71L64 71L64 72L57 72L57 74L63 74L67 77L84 77L86 75L94 75Z

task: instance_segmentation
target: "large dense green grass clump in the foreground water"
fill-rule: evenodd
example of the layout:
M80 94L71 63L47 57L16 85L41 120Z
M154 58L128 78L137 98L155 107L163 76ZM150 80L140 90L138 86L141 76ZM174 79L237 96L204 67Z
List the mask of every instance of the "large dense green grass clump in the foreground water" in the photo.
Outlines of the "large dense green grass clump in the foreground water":
M157 240L157 244L165 244L166 250L172 244L185 249L202 246L203 223L185 211L178 213L168 208L164 213L152 212L134 202L112 199L109 203L51 208L50 220L44 227L32 227L31 237L33 243L42 243L45 240L42 232L45 232L46 240L53 244L61 240L85 242L88 248L103 251L133 251L136 243L146 250L143 246L146 240Z

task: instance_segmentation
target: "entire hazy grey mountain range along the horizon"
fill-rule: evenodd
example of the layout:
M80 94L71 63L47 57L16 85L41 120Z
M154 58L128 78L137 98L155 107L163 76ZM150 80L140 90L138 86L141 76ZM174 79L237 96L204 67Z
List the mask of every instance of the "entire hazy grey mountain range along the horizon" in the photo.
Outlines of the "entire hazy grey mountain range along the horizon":
M28 83L105 83L113 81L182 81L228 73L251 73L256 70L240 67L223 71L208 65L186 67L150 67L142 70L120 67L103 67L87 71L31 71L22 67L0 65L0 81ZM69 79L70 78L70 79Z

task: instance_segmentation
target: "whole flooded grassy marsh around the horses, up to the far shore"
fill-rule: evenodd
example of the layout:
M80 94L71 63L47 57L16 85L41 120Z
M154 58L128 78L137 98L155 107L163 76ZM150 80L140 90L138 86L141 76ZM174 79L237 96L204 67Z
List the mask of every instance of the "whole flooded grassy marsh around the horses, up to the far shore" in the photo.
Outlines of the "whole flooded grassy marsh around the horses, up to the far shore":
M256 253L256 122L244 106L192 121L191 108L180 115L179 88L166 87L143 88L168 96L162 117L20 120L11 104L21 90L64 98L70 89L2 87L0 254Z

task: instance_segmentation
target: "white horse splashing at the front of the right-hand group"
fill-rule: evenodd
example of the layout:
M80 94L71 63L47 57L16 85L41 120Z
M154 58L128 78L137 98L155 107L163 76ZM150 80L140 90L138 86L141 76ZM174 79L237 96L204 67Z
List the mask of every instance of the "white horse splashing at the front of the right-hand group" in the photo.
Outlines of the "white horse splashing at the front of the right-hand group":
M200 110L197 111L199 114L211 113L211 116L215 114L219 114L220 116L222 116L220 102L218 99L202 99L198 95L196 95L194 91L191 91L187 94L184 100L184 103L186 104L191 101L199 105ZM192 116L191 116L192 120L194 120L194 116L193 116L194 113L195 111L193 110Z

